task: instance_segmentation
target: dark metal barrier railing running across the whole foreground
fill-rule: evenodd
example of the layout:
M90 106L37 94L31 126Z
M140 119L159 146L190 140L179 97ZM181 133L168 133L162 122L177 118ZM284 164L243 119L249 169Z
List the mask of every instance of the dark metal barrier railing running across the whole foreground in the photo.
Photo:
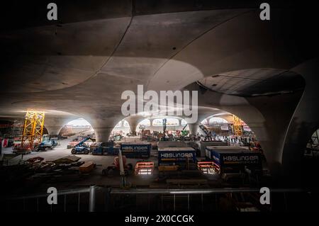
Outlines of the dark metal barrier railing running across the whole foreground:
M271 204L262 205L259 188L87 188L57 191L57 204L47 204L48 193L6 198L5 211L94 212L138 211L287 211L318 208L318 192L271 189ZM296 203L296 200L298 202ZM300 201L303 203L300 203ZM101 202L102 201L102 202ZM292 204L295 205L292 205ZM302 205L302 206L301 206ZM230 206L232 208L230 208Z

